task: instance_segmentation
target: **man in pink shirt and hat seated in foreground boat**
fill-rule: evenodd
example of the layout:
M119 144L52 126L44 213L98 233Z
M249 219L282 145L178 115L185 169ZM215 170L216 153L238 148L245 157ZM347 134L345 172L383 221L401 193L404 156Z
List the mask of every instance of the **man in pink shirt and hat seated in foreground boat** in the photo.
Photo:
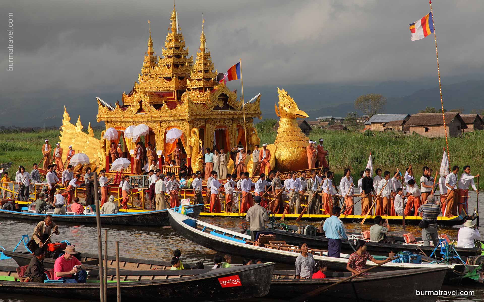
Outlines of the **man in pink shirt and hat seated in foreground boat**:
M65 254L54 263L54 280L65 280L65 283L86 283L86 266L74 257L78 254L76 246L67 245L62 251Z

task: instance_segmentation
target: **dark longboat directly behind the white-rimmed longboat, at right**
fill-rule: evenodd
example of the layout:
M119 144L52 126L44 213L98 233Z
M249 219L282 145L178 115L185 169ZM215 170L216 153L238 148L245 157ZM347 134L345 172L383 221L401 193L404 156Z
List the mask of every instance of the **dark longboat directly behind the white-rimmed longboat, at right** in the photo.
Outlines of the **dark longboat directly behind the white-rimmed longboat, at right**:
M312 235L305 235L305 234L298 234L295 232L287 231L287 230L277 230L273 229L270 230L275 235L275 240L285 241L287 244L299 244L300 242L305 242L309 246L318 248L318 249L327 249L328 248L328 238L325 236L312 236ZM348 234L350 235L350 234ZM392 236L393 237L393 236ZM416 238L418 241L421 241L421 238ZM419 240L420 239L420 240ZM354 250L351 248L349 244L352 244L354 247L353 240L343 239L341 241L342 244L342 252L351 254ZM366 250L370 252L372 255L382 255L388 256L390 250L394 253L403 252L403 251L410 251L414 254L419 254L421 250L427 255L430 256L432 251L434 250L433 246L423 246L421 244L405 244L403 237L395 237L395 244L384 244L378 242L372 242L366 240ZM480 255L481 249L480 248L466 248L466 247L455 247L455 250L459 255L464 259L467 256L474 256Z

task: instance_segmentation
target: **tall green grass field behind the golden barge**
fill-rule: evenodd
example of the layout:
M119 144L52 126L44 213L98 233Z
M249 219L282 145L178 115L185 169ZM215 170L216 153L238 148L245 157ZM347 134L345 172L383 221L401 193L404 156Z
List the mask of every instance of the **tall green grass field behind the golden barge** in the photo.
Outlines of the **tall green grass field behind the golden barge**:
M41 147L44 139L54 145L59 141L58 130L31 133L0 133L0 163L13 162L11 172L23 165L27 171L32 163L42 158ZM99 137L100 130L94 130ZM259 131L260 142L273 144L275 131ZM393 132L368 132L314 130L309 138L318 141L324 139L324 146L330 152L330 166L336 173L339 183L345 168L350 168L355 179L364 170L368 155L373 156L374 168L388 170L396 167L405 171L409 164L414 167L416 176L421 175L422 167L429 166L439 171L445 138L429 139L419 135L397 135ZM449 138L451 165L461 168L470 165L472 174L484 173L484 131L465 133L459 138ZM481 183L484 183L481 182ZM480 184L484 188L484 184Z

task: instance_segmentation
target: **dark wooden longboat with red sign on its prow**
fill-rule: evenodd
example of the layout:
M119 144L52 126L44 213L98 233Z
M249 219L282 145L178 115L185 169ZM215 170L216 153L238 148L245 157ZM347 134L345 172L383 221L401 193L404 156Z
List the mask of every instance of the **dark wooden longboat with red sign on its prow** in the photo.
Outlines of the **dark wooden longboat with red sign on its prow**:
M140 276L140 273L136 272L137 274L133 275L133 281L121 282L121 295L124 300L136 299L136 301L221 301L240 299L242 296L258 298L269 292L273 270L274 263L271 262L250 266L234 266L223 270L206 270L200 274L186 270L190 273L186 276L181 276L180 273L178 275L177 273L170 273L170 271L160 271L161 276L152 280L152 273L156 271L148 272L146 276ZM0 268L0 273L3 273L2 268ZM56 298L76 297L77 299L99 301L99 283L96 282L15 282L15 277L12 276L13 272L10 270L9 273L10 276L2 278L9 281L0 281L0 292L28 293L29 295ZM123 276L127 280L130 279L126 277L125 273ZM143 280L143 277L148 280ZM137 281L138 278L141 280ZM227 286L228 283L230 283L230 286ZM108 282L107 297L109 301L116 301L115 282Z

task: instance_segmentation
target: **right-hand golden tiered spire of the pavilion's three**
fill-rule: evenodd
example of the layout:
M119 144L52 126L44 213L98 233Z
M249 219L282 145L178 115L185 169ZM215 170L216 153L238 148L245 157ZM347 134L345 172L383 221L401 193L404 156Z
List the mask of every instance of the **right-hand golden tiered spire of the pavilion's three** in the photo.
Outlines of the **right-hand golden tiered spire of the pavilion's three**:
M205 19L202 20L199 52L197 52L197 58L190 74L190 79L187 81L187 88L189 90L196 89L200 92L210 91L213 86L218 84L215 81L217 73L213 71L212 58L210 57L210 51L207 48L207 39L203 32L204 23Z

